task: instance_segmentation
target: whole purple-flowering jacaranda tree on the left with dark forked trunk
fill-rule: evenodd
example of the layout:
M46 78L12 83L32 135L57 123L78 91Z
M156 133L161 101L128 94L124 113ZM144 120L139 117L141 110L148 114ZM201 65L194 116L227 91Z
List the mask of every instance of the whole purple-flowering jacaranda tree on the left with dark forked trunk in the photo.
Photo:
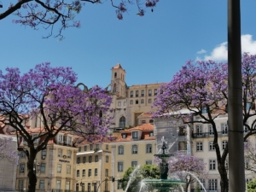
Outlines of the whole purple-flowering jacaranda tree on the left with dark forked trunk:
M50 67L49 63L39 64L22 75L18 68L0 71L0 121L27 143L27 148L19 145L18 150L27 157L29 192L35 191L37 183L33 172L36 155L59 131L76 132L88 141L108 135L111 97L97 86L80 90L74 84L76 79L70 67ZM26 122L33 118L41 119L44 126L37 137L26 130Z

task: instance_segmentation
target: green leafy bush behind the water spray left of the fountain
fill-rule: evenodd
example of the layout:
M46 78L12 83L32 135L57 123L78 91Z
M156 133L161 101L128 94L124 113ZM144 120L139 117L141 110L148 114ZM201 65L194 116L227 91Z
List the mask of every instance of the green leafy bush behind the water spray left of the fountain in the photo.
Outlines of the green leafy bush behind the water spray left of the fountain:
M122 189L125 190L131 173L135 167L129 167L122 178ZM141 181L144 178L160 178L160 170L158 166L154 165L144 165L140 166L137 170L135 177L132 178L130 187L127 189L127 192L139 191L141 187Z

